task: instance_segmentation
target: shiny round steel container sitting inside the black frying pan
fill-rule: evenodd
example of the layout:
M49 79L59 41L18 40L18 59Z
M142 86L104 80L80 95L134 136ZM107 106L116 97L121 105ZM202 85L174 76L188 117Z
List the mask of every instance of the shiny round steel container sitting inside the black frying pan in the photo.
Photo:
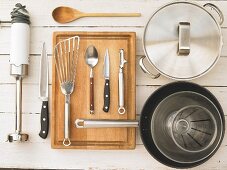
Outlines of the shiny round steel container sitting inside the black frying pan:
M216 149L223 125L218 109L207 97L182 91L166 97L156 107L151 133L165 157L178 163L195 163Z

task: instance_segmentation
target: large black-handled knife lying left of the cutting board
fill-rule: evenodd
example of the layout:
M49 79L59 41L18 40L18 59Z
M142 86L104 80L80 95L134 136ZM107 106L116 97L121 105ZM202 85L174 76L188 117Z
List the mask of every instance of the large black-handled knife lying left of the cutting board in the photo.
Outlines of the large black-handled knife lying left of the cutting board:
M40 60L39 74L39 97L42 100L41 108L41 130L39 136L43 139L47 138L49 131L49 111L48 111L48 57L46 53L46 45L43 43L43 49Z

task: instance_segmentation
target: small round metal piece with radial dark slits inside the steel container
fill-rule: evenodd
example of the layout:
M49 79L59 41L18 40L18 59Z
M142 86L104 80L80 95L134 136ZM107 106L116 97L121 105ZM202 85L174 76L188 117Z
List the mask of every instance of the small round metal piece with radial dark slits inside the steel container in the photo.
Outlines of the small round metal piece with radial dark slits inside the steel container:
M175 144L187 152L207 149L217 136L217 123L212 113L201 106L186 106L173 115L170 132Z

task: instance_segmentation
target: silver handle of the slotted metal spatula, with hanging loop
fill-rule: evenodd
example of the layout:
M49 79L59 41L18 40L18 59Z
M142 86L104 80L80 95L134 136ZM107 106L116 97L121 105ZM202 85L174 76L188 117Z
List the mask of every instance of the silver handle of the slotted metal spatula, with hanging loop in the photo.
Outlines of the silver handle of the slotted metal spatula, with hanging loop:
M70 95L65 96L65 126L64 126L65 138L63 140L64 146L70 146L71 141L69 138L70 128Z

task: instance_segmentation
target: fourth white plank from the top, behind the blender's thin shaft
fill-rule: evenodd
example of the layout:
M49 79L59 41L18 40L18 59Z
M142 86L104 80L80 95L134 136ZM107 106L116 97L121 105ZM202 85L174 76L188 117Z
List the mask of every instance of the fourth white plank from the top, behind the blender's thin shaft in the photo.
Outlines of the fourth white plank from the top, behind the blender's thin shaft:
M136 112L140 114L146 99L157 89L155 86L137 86L136 97ZM51 107L51 87L50 89L50 107ZM227 115L227 87L208 87L208 89L217 97L221 103L224 112ZM0 113L15 112L15 85L1 84L0 85ZM41 101L38 98L38 85L24 84L23 85L23 113L39 113Z

